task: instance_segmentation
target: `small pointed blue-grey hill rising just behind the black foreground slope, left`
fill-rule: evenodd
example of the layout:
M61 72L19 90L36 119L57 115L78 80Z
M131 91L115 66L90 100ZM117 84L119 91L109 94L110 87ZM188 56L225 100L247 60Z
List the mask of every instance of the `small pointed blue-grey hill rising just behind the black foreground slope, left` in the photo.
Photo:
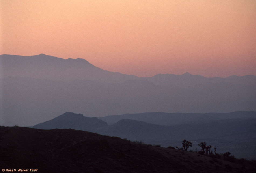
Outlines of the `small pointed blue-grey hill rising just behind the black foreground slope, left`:
M49 121L34 125L36 129L75 129L94 132L95 129L107 126L107 123L95 117L89 118L82 114L65 112Z

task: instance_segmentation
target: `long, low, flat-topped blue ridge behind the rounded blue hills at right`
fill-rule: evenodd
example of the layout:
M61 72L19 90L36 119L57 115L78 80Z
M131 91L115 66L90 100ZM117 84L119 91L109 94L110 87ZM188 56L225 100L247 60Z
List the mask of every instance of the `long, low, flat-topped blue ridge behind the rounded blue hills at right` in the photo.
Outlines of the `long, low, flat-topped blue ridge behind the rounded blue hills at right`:
M165 113L165 112L145 112L141 114L123 114L109 115L98 117L109 125L118 122L121 119L132 119L158 125L176 125L185 123L204 123L213 122L221 119L234 118L254 118L256 119L255 111L237 111L229 113Z

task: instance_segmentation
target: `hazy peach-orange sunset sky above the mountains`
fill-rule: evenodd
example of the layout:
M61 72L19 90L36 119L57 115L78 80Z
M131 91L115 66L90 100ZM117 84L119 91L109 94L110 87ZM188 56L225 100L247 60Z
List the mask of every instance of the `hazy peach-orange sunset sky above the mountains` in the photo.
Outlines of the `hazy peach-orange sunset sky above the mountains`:
M255 0L0 0L0 54L153 76L256 75Z

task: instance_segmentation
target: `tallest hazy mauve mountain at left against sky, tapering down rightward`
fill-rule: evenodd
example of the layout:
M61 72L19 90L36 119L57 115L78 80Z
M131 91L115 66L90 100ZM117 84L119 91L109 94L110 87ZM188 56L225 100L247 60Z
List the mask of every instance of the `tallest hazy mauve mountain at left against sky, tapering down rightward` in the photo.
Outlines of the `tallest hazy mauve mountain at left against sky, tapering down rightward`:
M85 59L63 59L50 55L0 55L2 77L32 77L71 81L74 79L96 82L120 82L137 79L137 76L102 70Z

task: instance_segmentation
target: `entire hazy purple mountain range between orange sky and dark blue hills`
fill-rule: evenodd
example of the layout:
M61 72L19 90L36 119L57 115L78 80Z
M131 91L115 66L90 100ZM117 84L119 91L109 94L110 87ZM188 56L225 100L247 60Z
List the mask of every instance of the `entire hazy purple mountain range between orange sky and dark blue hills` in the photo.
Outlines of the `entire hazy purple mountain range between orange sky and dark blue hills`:
M137 77L85 59L0 55L0 123L32 126L63 112L103 117L143 112L256 111L256 76Z

